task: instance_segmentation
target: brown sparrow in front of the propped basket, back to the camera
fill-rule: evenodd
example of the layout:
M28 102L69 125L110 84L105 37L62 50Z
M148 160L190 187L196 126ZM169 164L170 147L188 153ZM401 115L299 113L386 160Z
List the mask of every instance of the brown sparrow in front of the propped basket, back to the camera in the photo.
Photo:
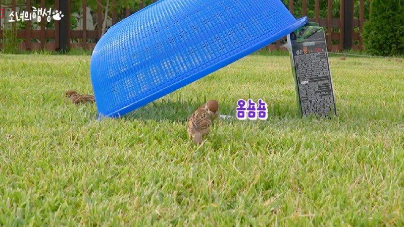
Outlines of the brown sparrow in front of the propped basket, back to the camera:
M209 100L196 109L187 122L189 139L197 144L202 143L202 137L209 134L210 127L219 114L219 103L216 100Z

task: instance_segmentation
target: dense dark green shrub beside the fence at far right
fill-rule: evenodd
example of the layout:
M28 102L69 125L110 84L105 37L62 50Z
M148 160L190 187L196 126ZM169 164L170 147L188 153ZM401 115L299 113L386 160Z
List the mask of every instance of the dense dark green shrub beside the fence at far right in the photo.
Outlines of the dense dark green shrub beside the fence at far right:
M404 0L373 0L363 38L370 53L404 54Z

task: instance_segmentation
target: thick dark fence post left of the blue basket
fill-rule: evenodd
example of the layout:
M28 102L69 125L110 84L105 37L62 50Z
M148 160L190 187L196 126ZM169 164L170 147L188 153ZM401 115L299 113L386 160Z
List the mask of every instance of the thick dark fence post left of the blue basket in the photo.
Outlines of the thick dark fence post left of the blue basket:
M62 17L62 20L59 22L59 46L56 48L61 52L66 52L69 47L69 30L70 30L70 12L68 12L69 8L68 1L60 1L59 2L59 10L65 15Z

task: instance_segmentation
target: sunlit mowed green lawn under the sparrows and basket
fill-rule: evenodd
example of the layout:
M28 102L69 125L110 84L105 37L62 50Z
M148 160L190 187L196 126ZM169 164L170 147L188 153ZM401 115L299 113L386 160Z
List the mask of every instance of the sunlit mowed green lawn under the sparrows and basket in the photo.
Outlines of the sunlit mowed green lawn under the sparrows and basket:
M288 56L251 55L96 121L90 56L0 55L0 225L403 225L404 64L331 57L338 116L300 118ZM235 115L203 146L186 118Z

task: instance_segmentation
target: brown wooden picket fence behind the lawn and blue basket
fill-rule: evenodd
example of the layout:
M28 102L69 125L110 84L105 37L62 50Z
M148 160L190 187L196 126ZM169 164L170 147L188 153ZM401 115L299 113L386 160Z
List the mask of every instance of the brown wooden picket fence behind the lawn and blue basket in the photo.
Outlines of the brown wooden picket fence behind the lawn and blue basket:
M19 43L19 48L23 50L59 50L65 48L76 48L81 47L85 49L92 49L95 42L102 35L102 25L103 24L103 6L100 5L100 0L97 1L97 12L96 21L97 26L95 30L87 30L87 18L86 18L86 8L87 1L96 0L82 0L82 30L72 30L70 28L70 17L71 0L55 0L55 9L62 10L65 17L61 21L56 21L54 28L45 28L45 20L40 22L39 30L32 30L31 22L26 22L25 29L17 29L17 38L22 40ZM112 5L115 5L116 0L111 0ZM359 1L359 18L354 18L354 1ZM327 18L320 18L320 0L315 0L315 17L310 18L309 21L318 22L321 26L327 29L327 42L330 51L340 51L343 49L352 48L354 50L362 49L362 37L361 33L363 31L363 25L366 21L365 19L365 0L341 0L340 3L340 18L332 17L332 2L333 0L327 0ZM308 12L308 0L302 0L302 16L306 16ZM1 0L0 0L1 6ZM40 0L40 6L45 8L45 0ZM140 4L136 10L124 9L124 15L118 17L115 8L111 10L110 17L112 18L112 24L118 22L118 18L128 17L130 14L138 11L144 7ZM293 14L295 5L293 0L289 0L289 11ZM12 0L11 10L15 12L16 10L16 0ZM31 0L26 0L25 11L31 11ZM300 15L299 15L300 16ZM15 27L15 22L12 22L12 27ZM2 35L2 28L0 26L0 37ZM34 39L34 42L32 41ZM0 40L1 41L1 40ZM274 50L278 49L282 45L282 41L277 41L269 46L267 49ZM2 43L0 43L0 46Z

